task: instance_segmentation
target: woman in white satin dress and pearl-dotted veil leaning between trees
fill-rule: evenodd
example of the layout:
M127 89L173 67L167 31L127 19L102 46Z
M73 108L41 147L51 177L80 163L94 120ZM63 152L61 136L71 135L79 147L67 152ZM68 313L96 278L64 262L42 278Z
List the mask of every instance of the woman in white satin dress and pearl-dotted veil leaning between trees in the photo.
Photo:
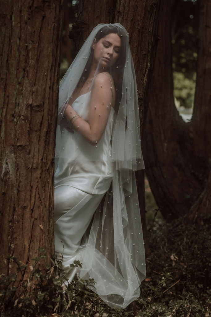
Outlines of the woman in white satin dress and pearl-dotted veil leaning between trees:
M128 33L119 23L99 24L59 88L55 251L69 281L94 278L90 289L110 307L138 298L146 277L134 174L143 168ZM74 260L82 268L70 270Z

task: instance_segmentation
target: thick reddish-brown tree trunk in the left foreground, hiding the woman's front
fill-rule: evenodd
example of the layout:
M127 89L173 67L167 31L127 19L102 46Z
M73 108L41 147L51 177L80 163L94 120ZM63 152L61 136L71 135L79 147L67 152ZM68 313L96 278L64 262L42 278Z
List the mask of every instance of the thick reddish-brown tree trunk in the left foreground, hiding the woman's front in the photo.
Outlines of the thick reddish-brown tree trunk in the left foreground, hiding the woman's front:
M16 272L7 256L30 265L38 248L48 257L54 251L61 25L58 1L1 1L0 270L6 275Z

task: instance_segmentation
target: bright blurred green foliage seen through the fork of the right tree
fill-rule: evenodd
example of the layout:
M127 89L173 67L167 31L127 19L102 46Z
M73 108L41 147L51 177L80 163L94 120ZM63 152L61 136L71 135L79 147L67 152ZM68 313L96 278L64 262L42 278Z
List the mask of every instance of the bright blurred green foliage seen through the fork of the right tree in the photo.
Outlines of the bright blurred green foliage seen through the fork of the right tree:
M196 74L192 79L183 73L173 72L174 97L180 102L180 107L192 108L194 104Z

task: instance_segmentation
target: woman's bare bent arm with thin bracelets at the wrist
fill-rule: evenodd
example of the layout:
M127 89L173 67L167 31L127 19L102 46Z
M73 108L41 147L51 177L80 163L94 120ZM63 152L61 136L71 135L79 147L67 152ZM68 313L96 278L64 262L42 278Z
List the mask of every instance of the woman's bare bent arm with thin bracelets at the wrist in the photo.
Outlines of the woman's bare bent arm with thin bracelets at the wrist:
M111 77L112 80L112 77ZM113 84L114 87L114 84ZM80 133L91 145L96 145L105 131L112 107L113 88L106 74L99 74L93 82L88 122L80 117L71 120L72 128ZM115 100L115 96L114 96ZM70 120L76 111L68 105L65 109L65 117Z

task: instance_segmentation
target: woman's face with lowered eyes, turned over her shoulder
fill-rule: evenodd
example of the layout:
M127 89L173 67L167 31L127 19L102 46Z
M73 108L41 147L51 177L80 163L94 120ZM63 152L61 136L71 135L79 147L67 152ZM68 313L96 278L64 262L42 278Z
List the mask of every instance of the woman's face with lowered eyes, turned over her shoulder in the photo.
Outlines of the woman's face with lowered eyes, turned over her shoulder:
M121 39L115 33L102 37L97 43L96 39L92 44L94 49L93 62L101 67L111 67L118 60L121 49Z

